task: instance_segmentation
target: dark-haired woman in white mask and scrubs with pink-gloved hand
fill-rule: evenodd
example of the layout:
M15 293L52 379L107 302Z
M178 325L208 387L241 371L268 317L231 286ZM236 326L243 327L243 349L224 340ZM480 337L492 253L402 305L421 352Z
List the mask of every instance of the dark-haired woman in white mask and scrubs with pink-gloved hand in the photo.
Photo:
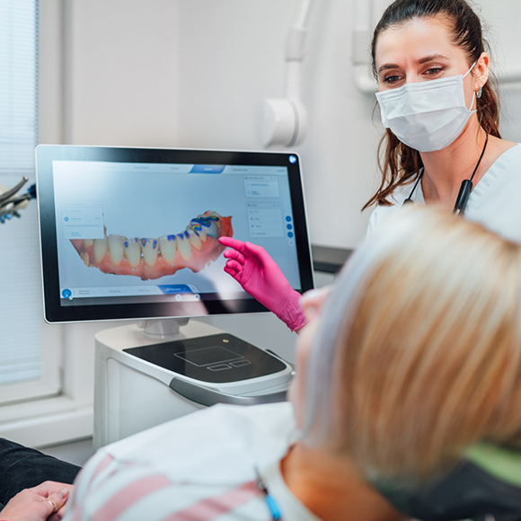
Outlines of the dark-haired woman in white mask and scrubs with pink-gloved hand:
M371 56L385 133L382 181L367 234L403 204L437 205L521 242L521 146L501 139L481 22L465 0L396 0L376 25ZM300 295L260 246L220 242L225 271L291 331Z

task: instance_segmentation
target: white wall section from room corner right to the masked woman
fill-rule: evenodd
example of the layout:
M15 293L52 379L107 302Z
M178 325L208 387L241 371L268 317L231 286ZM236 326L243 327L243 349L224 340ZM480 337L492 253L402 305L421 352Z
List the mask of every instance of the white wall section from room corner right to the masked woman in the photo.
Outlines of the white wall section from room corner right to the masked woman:
M287 30L300 0L180 3L181 146L260 148L258 112L284 94ZM375 186L373 98L350 79L352 0L318 1L311 16L302 155L313 243L351 247Z

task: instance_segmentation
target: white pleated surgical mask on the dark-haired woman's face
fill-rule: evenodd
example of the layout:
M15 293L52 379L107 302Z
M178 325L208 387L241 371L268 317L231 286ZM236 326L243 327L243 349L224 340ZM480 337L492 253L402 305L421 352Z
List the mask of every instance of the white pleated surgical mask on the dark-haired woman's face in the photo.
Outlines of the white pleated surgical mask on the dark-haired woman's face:
M384 127L391 128L403 144L419 152L433 152L450 145L476 111L467 109L464 91L464 77L474 65L475 62L465 75L404 84L376 93Z

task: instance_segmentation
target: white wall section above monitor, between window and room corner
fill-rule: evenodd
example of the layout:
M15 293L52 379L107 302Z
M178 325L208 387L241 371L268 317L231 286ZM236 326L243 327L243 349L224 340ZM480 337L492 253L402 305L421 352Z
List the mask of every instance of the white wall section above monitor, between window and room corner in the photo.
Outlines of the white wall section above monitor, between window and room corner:
M175 146L179 9L175 0L66 0L67 140Z

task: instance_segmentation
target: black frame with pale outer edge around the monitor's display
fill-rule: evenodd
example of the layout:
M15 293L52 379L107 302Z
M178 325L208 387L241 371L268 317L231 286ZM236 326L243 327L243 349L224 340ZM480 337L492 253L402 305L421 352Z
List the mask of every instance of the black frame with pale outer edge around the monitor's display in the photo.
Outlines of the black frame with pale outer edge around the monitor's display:
M296 161L292 163L289 157ZM98 322L197 317L229 313L262 313L266 307L253 298L62 306L59 296L57 226L53 161L116 163L194 163L285 166L295 223L301 292L313 288L311 247L307 233L300 157L294 152L211 150L196 148L136 148L124 146L40 145L36 148L37 198L40 225L44 318L47 322ZM202 305L201 305L202 304Z

